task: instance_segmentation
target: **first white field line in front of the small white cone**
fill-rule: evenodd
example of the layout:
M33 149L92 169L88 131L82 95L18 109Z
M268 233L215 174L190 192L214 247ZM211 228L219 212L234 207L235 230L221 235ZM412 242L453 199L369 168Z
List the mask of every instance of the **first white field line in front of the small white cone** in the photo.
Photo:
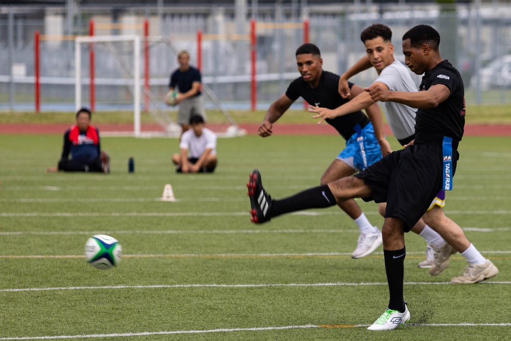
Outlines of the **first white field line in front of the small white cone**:
M504 214L511 215L511 210L477 210L477 211L446 211L447 215L452 214ZM292 213L294 215L304 216L322 216L322 215L341 215L342 211L299 211ZM378 212L368 212L367 214L377 215ZM233 217L233 216L248 216L247 212L54 212L54 213L41 213L41 212L26 212L26 213L0 213L0 217L193 217L193 216L207 216L207 217Z

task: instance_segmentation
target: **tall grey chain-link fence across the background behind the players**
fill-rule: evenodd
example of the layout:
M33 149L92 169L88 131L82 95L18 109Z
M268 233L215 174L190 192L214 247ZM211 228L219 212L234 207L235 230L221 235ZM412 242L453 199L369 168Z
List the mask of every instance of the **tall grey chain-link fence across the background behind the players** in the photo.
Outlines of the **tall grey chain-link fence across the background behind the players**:
M511 101L511 6L508 4L493 1L454 7L275 5L253 10L248 7L240 11L235 6L0 7L0 109L34 110L37 97L41 110L73 108L74 37L90 34L136 34L147 39L140 51L143 62L138 72L143 79L147 77L156 98L164 98L169 75L178 67L175 51L187 49L191 63L200 63L203 82L224 105L249 109L255 94L258 107L266 107L285 92L291 79L299 76L294 52L301 43L315 43L321 50L323 68L342 73L365 53L360 32L377 22L392 29L394 56L402 61L404 32L417 24L435 27L442 37L440 53L463 77L467 103ZM255 30L251 29L251 19L255 20ZM91 23L94 32L90 31ZM36 31L39 32L38 49ZM97 110L109 108L106 104L132 104L131 95L126 92L131 77L120 69L119 57L107 50L100 46L94 48ZM122 48L118 50L122 55ZM86 52L84 55L88 56ZM82 59L80 67L85 78L83 102L86 103L90 100L88 57ZM257 79L255 89L251 82L252 69ZM375 78L376 73L370 70L352 80L366 86Z

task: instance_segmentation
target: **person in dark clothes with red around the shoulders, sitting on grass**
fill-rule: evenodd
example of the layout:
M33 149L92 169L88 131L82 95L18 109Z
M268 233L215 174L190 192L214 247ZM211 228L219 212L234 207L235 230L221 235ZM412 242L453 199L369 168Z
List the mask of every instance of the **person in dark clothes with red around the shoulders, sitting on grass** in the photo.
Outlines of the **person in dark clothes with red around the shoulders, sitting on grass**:
M48 172L110 173L110 156L106 151L101 151L99 130L90 124L90 117L91 112L87 108L76 112L76 124L64 133L58 166L48 168Z

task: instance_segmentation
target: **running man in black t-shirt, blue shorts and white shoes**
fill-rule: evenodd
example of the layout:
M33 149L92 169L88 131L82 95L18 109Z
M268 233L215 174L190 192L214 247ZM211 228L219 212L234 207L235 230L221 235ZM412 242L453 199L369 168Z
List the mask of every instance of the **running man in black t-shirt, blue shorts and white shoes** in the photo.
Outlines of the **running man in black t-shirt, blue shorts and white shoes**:
M322 69L321 55L314 44L306 43L296 50L296 64L301 76L293 80L286 93L268 108L258 131L263 138L273 133L273 123L280 119L300 96L310 105L321 105L333 109L363 93L360 86L350 83L352 97L342 98L337 91L340 77ZM376 103L371 103L365 110L370 120L360 110L326 120L346 140L346 146L324 171L321 176L321 185L361 171L380 160L382 151L384 155L391 151L384 137L380 108ZM365 257L375 251L382 243L378 228L369 222L355 200L339 201L338 205L359 228L360 236L352 257ZM254 222L257 222L256 217Z

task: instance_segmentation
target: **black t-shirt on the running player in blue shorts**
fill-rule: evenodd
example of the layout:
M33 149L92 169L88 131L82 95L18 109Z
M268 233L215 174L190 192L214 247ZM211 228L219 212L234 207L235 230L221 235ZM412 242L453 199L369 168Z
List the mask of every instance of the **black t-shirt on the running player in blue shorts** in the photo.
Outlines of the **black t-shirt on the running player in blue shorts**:
M296 101L298 97L301 96L310 105L336 109L349 101L339 95L339 78L340 76L323 70L318 86L312 88L303 78L298 77L289 84L286 96L293 101ZM351 89L353 83L348 83L348 85ZM354 126L359 124L360 127L363 128L369 123L367 116L360 110L333 119L326 119L326 121L333 126L346 141L355 133L353 129Z

